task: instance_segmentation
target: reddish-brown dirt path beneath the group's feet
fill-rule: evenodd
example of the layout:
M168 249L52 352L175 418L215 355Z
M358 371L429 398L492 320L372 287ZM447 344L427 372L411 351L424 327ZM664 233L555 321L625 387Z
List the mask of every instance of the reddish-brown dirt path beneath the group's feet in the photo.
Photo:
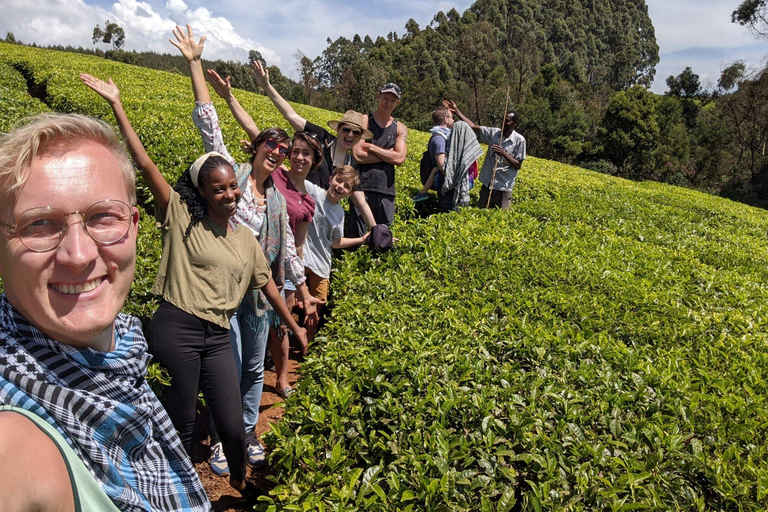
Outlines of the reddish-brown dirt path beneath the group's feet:
M300 355L293 347L291 347L290 357L288 381L291 386L294 386L298 379L296 372L299 368L298 359ZM275 380L274 368L264 372L264 392L261 397L259 422L256 424L256 433L259 437L269 430L270 423L280 419L285 412L285 408L280 405L283 399L275 394ZM269 454L269 446L265 447L267 454ZM203 453L206 453L208 444L201 445L201 449ZM217 476L211 471L211 466L208 464L207 459L202 457L199 457L199 459L201 460L195 462L195 468L200 475L200 480L203 482L203 487L205 487L208 493L215 512L251 510L245 506L245 501L240 496L240 493L229 486L229 477ZM248 467L248 479L262 489L268 488L270 485L270 482L266 480L268 474L269 468L258 471Z

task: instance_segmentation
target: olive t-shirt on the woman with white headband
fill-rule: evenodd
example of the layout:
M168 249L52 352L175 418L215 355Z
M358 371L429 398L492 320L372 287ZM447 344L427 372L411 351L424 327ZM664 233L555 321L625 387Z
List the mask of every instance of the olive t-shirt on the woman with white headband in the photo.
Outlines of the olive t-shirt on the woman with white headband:
M261 245L248 228L227 231L208 216L184 239L191 216L171 189L161 223L163 256L152 293L182 311L229 329L229 318L245 293L262 288L272 277Z

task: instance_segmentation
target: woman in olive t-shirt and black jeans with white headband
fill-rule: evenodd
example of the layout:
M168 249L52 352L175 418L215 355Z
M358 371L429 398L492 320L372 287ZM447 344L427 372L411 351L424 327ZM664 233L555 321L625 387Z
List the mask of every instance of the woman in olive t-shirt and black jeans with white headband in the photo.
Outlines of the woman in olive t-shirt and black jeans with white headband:
M131 126L117 86L111 79L106 83L85 73L80 77L111 105L162 223L163 254L152 290L162 302L152 318L149 345L171 376L164 390L168 415L189 453L202 389L232 468L230 485L247 493L245 429L229 342L230 318L243 295L263 293L298 336L305 336L304 329L280 297L259 244L232 222L241 190L230 163L218 153L206 153L172 188Z

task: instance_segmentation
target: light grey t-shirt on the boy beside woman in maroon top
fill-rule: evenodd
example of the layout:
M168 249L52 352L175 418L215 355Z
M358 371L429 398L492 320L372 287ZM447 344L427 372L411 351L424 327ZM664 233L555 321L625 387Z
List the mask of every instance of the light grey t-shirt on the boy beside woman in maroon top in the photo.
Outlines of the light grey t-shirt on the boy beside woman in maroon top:
M308 181L304 186L315 200L315 217L304 243L304 266L320 277L329 278L333 240L344 236L344 209L328 200L325 189Z

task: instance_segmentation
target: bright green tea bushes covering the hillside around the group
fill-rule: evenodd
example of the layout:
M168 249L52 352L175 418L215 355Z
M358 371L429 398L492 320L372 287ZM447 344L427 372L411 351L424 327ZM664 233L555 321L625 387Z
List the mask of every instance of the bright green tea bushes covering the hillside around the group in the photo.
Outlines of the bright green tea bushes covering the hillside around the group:
M188 79L7 44L0 67L2 127L47 108L113 121L87 71L121 87L170 180L202 151ZM766 212L530 157L510 210L421 218L426 142L412 131L398 170L396 248L337 262L261 508L765 510ZM160 245L149 215L141 231L126 309L146 319Z

